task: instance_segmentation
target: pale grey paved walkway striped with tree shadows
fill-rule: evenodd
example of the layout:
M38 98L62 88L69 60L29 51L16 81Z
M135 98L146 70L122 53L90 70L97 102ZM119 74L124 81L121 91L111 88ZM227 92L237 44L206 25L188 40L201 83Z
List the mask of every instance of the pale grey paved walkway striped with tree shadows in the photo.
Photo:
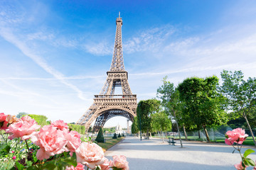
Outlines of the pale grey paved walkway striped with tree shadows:
M123 154L127 157L130 170L234 170L234 164L240 163L240 155L238 152L232 154L232 146L183 141L181 148L179 140L176 142L176 146L171 146L160 139L140 141L139 137L126 137L108 149L105 155L112 159L113 155ZM256 150L254 147L250 148ZM242 149L242 153L245 149L247 148ZM249 157L256 160L255 153Z

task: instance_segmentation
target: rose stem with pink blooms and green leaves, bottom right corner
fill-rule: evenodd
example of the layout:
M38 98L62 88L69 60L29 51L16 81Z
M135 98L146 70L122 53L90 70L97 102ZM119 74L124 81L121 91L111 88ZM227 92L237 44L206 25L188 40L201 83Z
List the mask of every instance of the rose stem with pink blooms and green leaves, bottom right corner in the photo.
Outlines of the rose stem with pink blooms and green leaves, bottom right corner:
M248 166L254 166L253 169L256 169L255 162L247 157L249 154L255 151L252 149L247 149L243 155L241 154L242 142L246 140L247 136L248 135L245 134L245 130L242 130L241 128L237 128L232 131L228 130L228 132L225 133L225 137L227 138L225 139L225 143L234 147L233 153L235 152L235 150L240 153L242 161L240 162L240 164L235 164L235 169L238 170L245 170Z

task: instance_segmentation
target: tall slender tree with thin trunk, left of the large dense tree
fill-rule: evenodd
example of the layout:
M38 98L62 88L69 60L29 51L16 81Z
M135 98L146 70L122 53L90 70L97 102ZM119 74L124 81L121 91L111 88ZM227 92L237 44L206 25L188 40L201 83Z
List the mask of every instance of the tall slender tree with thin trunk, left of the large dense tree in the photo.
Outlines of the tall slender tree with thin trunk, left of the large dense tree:
M163 79L164 84L160 86L159 89L157 89L157 97L161 99L161 104L164 106L165 111L174 117L177 130L178 130L178 136L181 142L181 147L183 147L182 141L181 141L181 134L178 128L178 122L181 122L182 120L181 118L182 103L178 98L179 94L177 89L174 87L174 84L170 83L166 79L167 77L164 77Z

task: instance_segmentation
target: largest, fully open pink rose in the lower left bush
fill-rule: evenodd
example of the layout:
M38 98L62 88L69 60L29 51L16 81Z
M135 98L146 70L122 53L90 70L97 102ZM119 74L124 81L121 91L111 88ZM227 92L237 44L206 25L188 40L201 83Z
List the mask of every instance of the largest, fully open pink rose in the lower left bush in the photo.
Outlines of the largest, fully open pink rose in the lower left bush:
M41 147L36 153L39 160L48 159L55 154L68 152L65 147L68 141L65 135L68 130L57 130L53 125L45 125L31 140L34 144Z

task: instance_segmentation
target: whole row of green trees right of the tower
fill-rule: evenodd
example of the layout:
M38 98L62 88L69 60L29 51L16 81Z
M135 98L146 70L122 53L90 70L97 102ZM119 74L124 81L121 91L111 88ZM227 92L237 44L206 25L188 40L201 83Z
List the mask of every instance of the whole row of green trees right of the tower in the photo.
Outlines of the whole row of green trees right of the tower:
M186 130L203 129L210 142L207 128L225 125L235 118L244 118L255 141L247 116L255 114L256 79L249 77L245 81L240 71L223 70L220 75L223 81L221 86L215 76L191 77L178 86L164 77L163 85L157 89L157 98L161 102L156 99L139 102L132 132L141 130L148 134L165 128L161 118L171 118L178 129L183 128L185 136Z

